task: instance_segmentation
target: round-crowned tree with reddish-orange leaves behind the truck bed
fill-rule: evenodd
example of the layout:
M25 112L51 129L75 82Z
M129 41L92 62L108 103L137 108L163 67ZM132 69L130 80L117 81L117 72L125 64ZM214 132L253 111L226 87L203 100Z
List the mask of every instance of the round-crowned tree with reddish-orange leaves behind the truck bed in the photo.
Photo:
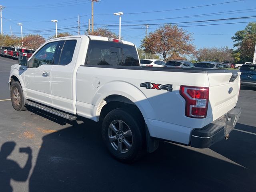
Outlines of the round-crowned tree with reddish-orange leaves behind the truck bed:
M177 25L167 24L154 32L150 32L142 40L141 47L151 54L160 54L166 61L174 55L192 54L195 46L192 43L192 34Z

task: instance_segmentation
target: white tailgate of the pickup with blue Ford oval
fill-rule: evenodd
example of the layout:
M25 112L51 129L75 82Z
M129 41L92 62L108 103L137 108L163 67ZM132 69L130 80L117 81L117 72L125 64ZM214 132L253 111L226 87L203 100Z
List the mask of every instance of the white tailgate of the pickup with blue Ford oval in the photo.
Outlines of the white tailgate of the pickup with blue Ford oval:
M215 71L216 72L216 71ZM209 120L216 120L236 106L240 90L239 70L225 70L220 73L208 72L209 104L207 114Z

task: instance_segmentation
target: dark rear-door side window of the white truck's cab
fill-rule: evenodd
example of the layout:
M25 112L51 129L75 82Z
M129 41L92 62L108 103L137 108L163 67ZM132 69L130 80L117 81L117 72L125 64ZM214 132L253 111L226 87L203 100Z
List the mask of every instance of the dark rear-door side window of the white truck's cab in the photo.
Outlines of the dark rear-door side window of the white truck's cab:
M59 65L67 65L72 61L76 40L66 40L62 48Z

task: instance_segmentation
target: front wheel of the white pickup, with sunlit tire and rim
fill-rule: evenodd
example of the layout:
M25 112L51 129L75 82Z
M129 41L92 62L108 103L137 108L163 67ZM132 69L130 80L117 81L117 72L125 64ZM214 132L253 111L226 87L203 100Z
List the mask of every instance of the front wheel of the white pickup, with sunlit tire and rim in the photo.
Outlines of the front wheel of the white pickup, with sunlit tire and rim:
M12 106L17 111L24 111L26 110L24 104L24 97L22 87L19 82L13 82L11 84L11 91L10 91Z

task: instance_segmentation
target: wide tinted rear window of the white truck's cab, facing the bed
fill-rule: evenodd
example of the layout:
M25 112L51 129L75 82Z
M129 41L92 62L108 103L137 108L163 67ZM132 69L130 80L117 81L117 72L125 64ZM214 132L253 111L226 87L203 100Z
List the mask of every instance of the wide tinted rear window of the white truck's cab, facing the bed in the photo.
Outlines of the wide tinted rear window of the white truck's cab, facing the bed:
M135 46L99 40L90 40L85 64L140 66Z

